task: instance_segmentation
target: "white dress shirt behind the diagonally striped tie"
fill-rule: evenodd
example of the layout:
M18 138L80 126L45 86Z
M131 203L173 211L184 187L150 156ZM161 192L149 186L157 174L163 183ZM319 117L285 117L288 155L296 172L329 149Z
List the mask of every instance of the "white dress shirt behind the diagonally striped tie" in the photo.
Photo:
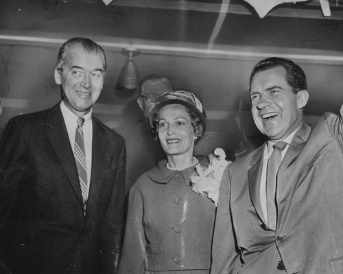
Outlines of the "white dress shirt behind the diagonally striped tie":
M72 113L67 106L64 104L64 101L60 103L62 115L64 122L67 126L69 141L71 148L74 152L75 144L75 132L78 127L78 116ZM93 123L92 123L92 109L86 115L84 115L84 124L82 126L84 134L84 150L86 152L86 164L87 164L87 183L88 183L88 192L89 186L91 183L91 167L92 167L92 140L93 140ZM87 193L88 194L88 193Z

